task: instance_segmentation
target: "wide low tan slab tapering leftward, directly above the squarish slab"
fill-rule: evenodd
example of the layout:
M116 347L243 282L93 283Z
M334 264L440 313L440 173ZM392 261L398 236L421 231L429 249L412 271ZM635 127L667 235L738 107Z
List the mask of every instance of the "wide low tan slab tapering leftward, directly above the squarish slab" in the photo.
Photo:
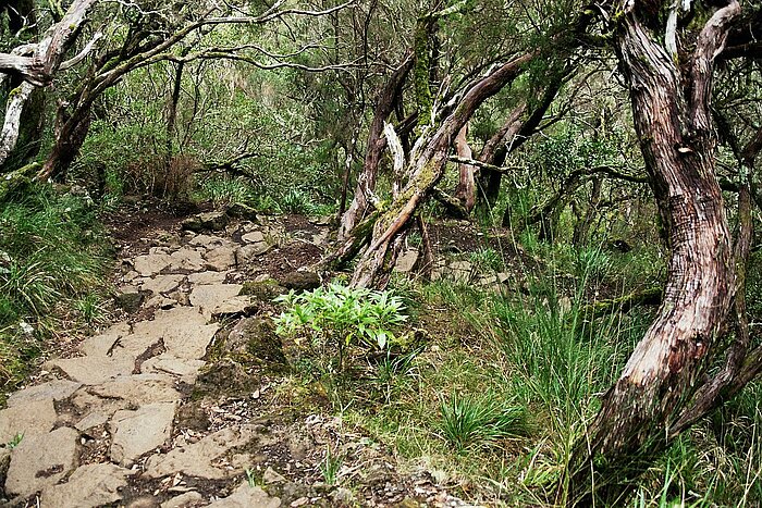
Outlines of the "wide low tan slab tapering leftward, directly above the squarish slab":
M101 385L90 386L87 393L106 399L122 399L143 406L180 400L174 379L168 374L133 374L116 377Z

